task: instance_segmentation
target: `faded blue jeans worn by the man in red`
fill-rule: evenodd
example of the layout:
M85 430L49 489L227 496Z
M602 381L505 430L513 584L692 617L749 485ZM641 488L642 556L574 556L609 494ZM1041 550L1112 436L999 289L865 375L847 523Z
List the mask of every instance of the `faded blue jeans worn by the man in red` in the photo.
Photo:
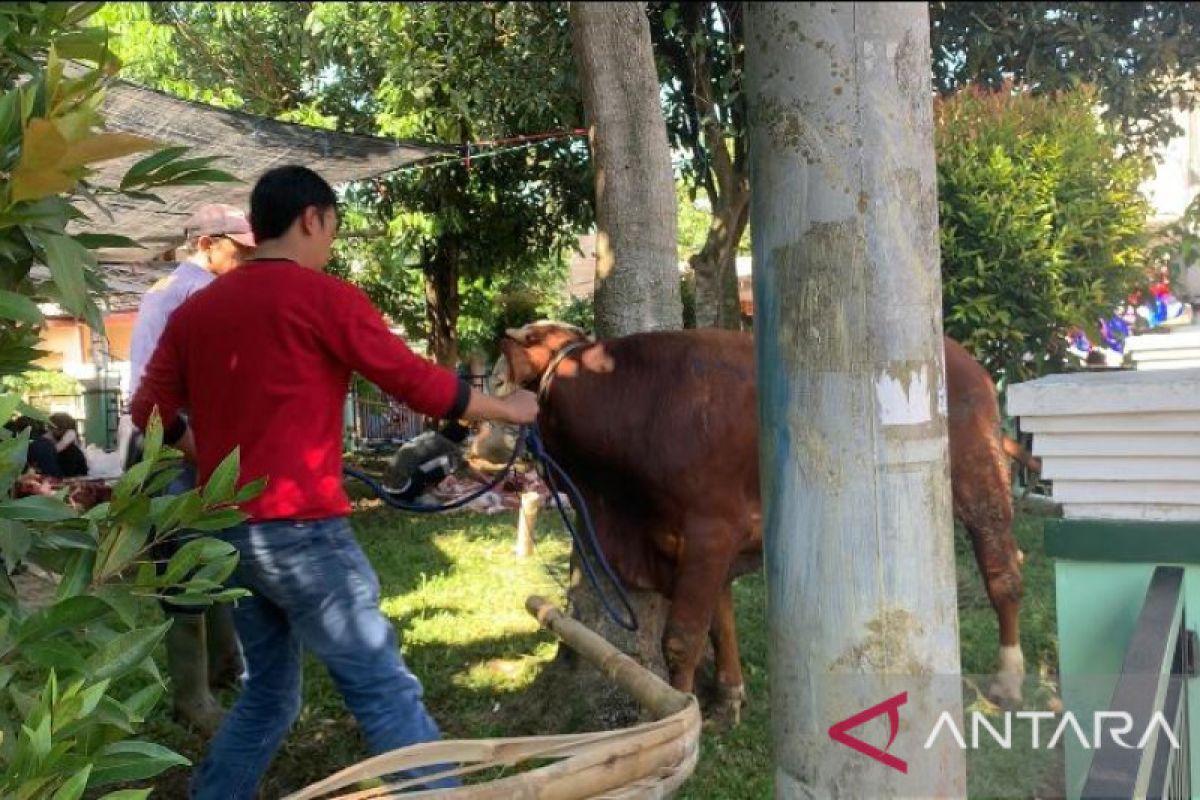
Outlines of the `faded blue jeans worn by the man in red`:
M329 669L372 753L439 738L421 684L379 610L379 579L346 518L239 525L220 536L241 555L229 584L253 593L234 607L247 676L192 776L193 798L254 798L300 714L301 646Z

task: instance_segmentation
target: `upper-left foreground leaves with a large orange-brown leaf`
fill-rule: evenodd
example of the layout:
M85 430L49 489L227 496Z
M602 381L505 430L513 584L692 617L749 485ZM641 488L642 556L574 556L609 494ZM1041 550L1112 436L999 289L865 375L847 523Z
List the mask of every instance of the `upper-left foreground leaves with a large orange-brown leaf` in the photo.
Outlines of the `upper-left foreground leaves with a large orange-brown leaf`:
M0 62L0 377L24 372L41 356L37 302L58 302L95 330L103 327L94 294L103 289L92 247L124 237L74 235L67 225L88 218L78 200L198 180L233 180L205 162L180 160L182 150L161 150L149 139L104 132L100 103L103 83L116 70L103 29L79 26L98 4L7 4L0 34L7 31ZM52 34L56 35L53 40ZM73 76L66 59L90 67ZM44 64L44 66L38 66ZM23 70L30 72L22 72ZM22 78L28 78L22 80ZM94 186L94 164L160 150L138 162L119 190ZM148 168L146 164L151 164ZM98 205L97 205L98 207ZM35 270L42 267L44 272Z

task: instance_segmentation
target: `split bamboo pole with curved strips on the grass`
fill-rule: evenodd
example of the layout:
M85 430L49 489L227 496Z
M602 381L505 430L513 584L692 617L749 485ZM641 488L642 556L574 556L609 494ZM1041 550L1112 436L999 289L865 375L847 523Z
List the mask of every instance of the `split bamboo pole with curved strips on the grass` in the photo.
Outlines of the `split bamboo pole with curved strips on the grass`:
M532 596L526 600L526 608L542 627L629 692L653 716L653 721L620 730L413 745L359 762L289 794L284 800L632 800L673 795L692 774L700 756L701 716L696 698L676 691L545 599ZM421 766L457 764L438 776L467 776L497 766L512 768L535 758L556 760L527 772L457 789L406 792L433 777L426 775L424 778L394 780L374 788L337 794L361 781Z

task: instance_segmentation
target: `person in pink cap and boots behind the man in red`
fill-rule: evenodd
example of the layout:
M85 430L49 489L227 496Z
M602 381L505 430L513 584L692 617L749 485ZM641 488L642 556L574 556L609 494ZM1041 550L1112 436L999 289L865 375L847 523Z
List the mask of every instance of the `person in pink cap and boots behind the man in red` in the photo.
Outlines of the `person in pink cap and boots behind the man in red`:
M190 254L151 287L138 308L130 350L131 398L175 309L217 277L235 270L254 251L250 221L232 205L200 206L185 224L184 233ZM142 449L134 443L128 447L126 468L140 459ZM193 488L196 469L185 464L184 471L164 492L182 494ZM155 545L150 555L160 571L186 541L187 536L181 534ZM227 604L216 604L204 612L176 606L169 600L163 600L161 606L172 619L166 637L167 672L175 715L205 735L212 735L224 716L212 688L233 686L241 675L233 612Z

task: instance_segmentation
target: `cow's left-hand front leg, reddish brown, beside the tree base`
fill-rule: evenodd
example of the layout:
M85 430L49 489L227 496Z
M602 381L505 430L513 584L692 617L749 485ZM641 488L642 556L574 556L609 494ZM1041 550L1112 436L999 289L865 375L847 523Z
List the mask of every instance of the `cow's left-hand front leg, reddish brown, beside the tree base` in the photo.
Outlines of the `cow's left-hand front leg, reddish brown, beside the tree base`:
M662 655L671 685L680 692L694 692L704 634L712 627L721 587L728 583L736 542L728 525L707 519L685 523L683 540L662 632Z

